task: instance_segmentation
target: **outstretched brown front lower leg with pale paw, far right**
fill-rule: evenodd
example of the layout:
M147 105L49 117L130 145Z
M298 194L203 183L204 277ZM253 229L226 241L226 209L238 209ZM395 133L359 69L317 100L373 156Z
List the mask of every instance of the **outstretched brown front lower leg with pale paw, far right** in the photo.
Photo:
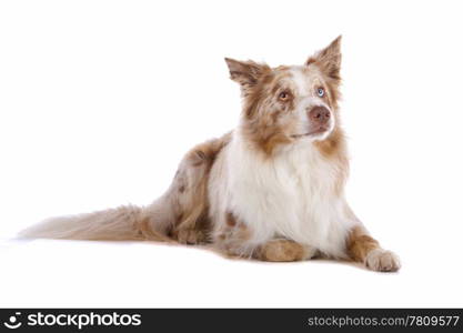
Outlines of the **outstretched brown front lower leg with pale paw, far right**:
M399 258L393 252L383 250L362 225L355 225L350 231L346 252L351 260L364 263L373 271L395 272L401 268Z

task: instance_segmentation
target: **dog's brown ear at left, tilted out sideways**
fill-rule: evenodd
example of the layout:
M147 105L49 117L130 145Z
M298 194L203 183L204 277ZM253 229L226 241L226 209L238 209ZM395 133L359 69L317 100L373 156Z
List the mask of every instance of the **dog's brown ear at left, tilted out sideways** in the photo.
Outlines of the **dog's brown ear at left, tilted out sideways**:
M243 92L254 87L259 79L270 70L266 64L260 64L251 60L238 61L225 58L225 62L230 70L230 79L240 83Z

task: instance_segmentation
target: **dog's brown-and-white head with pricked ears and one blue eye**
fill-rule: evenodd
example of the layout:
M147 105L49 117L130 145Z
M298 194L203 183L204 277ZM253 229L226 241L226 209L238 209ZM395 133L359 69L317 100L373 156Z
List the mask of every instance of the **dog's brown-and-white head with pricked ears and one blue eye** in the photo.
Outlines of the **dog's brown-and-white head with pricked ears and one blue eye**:
M338 124L341 37L303 65L270 68L225 58L244 99L242 132L265 153L326 140Z

